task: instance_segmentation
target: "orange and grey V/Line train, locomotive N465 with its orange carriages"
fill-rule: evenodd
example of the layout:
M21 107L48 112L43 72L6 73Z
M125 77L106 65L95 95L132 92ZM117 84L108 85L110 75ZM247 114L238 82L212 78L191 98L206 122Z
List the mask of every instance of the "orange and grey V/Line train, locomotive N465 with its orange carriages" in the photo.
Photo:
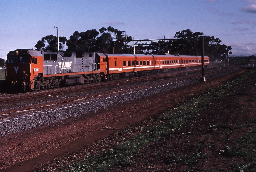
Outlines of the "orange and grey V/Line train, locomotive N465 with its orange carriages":
M200 67L201 56L17 49L8 53L6 63L6 82L10 89L26 91ZM209 57L204 57L204 65L209 66Z

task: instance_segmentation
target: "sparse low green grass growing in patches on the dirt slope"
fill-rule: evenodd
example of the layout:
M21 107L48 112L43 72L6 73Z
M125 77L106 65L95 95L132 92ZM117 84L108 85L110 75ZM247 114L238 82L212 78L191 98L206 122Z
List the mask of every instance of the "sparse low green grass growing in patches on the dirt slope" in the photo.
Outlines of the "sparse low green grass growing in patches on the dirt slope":
M215 107L216 104L214 104L213 102L215 102L216 99L223 99L224 97L227 97L229 95L228 92L232 90L234 86L243 83L244 80L253 72L255 73L255 70L245 72L236 79L226 84L223 84L222 86L205 91L201 95L193 97L190 101L180 104L177 107L164 112L158 117L154 125L141 127L139 130L137 130L140 131L140 134L138 134L137 136L130 137L129 139L124 139L122 140L122 144L112 145L111 148L103 149L100 153L96 155L88 154L84 158L84 161L68 165L68 167L72 167L71 169L69 169L69 171L106 171L113 168L113 166L129 166L134 164L135 162L132 160L132 157L134 157L138 153L141 147L148 144L149 142L154 142L155 144L157 144L159 140L171 137L171 134L181 130L186 124L188 124L188 122L192 121L192 119L200 116L200 113L198 112L202 112L203 110L211 106ZM255 123L256 119L251 121L249 119L245 119L242 123L237 123L236 125L238 125L238 128L245 128L248 131L251 131ZM193 125L193 123L191 123L191 125ZM209 129L229 129L231 125L232 124L216 124L211 125ZM233 132L234 131L228 131L227 134L231 134ZM129 132L127 130L122 130L119 132L119 134L124 133L127 135L127 133ZM195 135L197 133L198 131L190 130L188 133L182 133L182 135L186 137L188 135ZM247 134L244 137L235 140L229 140L228 138L224 138L222 139L222 141L225 144L226 142L233 141L239 146L226 146L224 149L220 150L219 154L222 154L227 158L238 157L245 158L247 161L250 161L250 163L233 164L230 165L229 168L232 168L235 171L256 171L256 156L254 154L254 152L256 151L256 139L253 133ZM195 143L192 145L192 151L189 155L174 153L162 155L161 151L156 151L156 154L158 156L164 156L164 162L166 164L188 165L188 167L192 169L194 167L190 165L195 164L201 159L205 159L208 157L208 155L202 152L202 150L204 148L212 147L215 147L214 142L207 142L206 144ZM208 170L208 172L214 172L219 170L219 168L216 168Z

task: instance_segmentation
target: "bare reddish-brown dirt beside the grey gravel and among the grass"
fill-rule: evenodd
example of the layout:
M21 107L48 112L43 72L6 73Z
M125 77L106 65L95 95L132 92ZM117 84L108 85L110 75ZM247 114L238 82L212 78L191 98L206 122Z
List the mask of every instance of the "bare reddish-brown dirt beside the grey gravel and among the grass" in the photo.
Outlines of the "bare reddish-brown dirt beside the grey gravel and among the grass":
M41 164L43 165L38 168L39 171L41 169L54 171L58 167L56 164L60 161L63 161L63 163L60 163L59 169L63 170L61 165L66 164L67 161L83 159L85 154L100 151L102 147L118 143L122 137L125 137L120 137L116 134L119 130L104 130L102 127L124 129L125 127L143 125L143 120L157 118L157 114L190 99L192 96L200 94L204 90L221 85L242 72L244 70L206 82L191 84L170 92L159 93L126 104L116 105L107 110L87 113L78 118L71 118L55 124L2 137L0 138L0 158L2 162L0 164L0 169L2 170L0 171L29 171ZM228 97L225 102L223 100L221 104L225 108L218 106L216 109L209 109L203 115L198 116L196 121L193 121L195 126L193 130L199 131L201 134L186 137L180 136L179 133L187 133L189 131L185 127L177 135L173 136L172 139L161 140L158 144L152 143L144 146L140 153L133 158L134 161L136 160L135 165L124 168L120 167L111 171L154 171L158 169L163 169L163 171L183 171L187 168L186 165L166 165L161 157L170 151L177 154L186 154L191 143L204 143L208 144L208 146L212 142L215 144L214 148L209 146L209 149L204 150L206 154L212 156L200 161L197 164L199 169L203 170L227 165L226 163L230 162L223 162L223 158L220 155L213 156L213 154L216 154L220 148L223 148L223 137L232 139L233 137L242 136L244 134L243 129L236 131L235 135L227 136L224 130L225 132L232 130L232 127L217 129L217 134L215 131L212 133L208 132L209 129L206 130L202 125L209 126L218 123L236 124L244 118L255 118L255 101L246 102L249 98L255 97L255 91L250 92L250 90L247 90L249 88L248 85L255 85L255 78L252 76L249 81L252 83L241 83L243 86L239 87L239 89L242 89L243 94ZM245 89L243 89L244 87ZM235 107L237 104L240 105L240 108ZM226 112L223 113L223 110ZM169 149L166 148L166 145L168 145ZM157 150L163 150L163 155L157 156Z

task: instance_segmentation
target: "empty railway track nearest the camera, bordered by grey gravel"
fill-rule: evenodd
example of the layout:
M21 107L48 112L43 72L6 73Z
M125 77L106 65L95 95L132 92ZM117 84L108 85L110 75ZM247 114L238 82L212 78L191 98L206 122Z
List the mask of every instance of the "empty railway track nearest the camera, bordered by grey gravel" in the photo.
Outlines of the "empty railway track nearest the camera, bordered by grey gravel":
M218 72L220 72L220 71L210 72L210 73L207 73L207 75L213 75ZM106 92L101 92L101 93L96 93L96 94L91 94L91 95L86 95L86 96L72 97L72 98L67 98L64 100L52 101L52 102L47 102L47 103L42 103L42 104L36 104L36 105L31 105L31 106L15 108L15 109L11 109L11 110L0 111L0 114L1 114L0 118L11 117L11 116L24 114L24 113L28 113L28 112L40 111L40 110L54 108L57 106L63 106L63 105L67 105L67 104L79 103L79 102L82 102L85 100L90 100L90 99L99 98L99 97L118 96L120 94L129 94L129 92L145 90L150 87L160 87L160 86L163 86L166 84L173 84L173 83L181 82L184 80L198 78L200 76L201 75L186 76L186 77L182 77L180 79L172 79L172 80L167 80L167 81L164 80L164 81L159 81L159 82L154 82L154 83L133 86L133 87L125 88L125 89L116 89L116 90L112 90L112 91L106 91ZM116 85L116 83L115 83L115 85Z

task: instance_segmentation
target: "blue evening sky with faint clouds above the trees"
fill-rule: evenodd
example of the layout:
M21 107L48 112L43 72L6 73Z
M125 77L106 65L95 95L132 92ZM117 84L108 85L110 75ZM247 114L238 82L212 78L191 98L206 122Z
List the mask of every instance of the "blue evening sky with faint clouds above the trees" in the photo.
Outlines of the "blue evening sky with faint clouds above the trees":
M0 0L0 58L35 49L47 35L111 26L138 39L190 29L222 40L232 55L256 54L256 0Z

